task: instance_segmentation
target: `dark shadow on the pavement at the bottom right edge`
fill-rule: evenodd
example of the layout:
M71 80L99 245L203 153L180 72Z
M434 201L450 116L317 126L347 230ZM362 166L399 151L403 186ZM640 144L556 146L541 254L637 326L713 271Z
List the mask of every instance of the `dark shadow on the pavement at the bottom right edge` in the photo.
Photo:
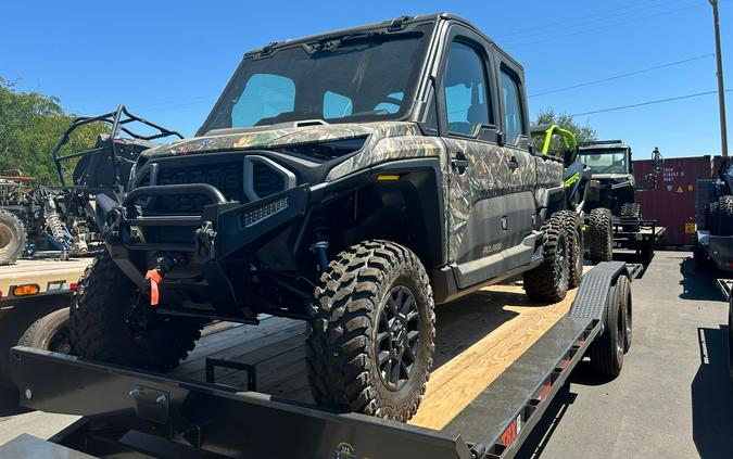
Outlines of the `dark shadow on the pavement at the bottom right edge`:
M700 366L692 382L693 441L700 458L733 457L733 387L728 326L698 328Z

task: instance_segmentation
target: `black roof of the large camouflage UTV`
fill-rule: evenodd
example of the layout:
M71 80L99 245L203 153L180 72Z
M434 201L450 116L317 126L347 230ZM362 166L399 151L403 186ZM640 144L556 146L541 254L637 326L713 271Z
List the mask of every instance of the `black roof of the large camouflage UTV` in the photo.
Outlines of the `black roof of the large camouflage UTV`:
M263 52L268 53L275 49L278 48L286 48L286 47L292 47L296 44L303 44L303 43L308 43L315 40L323 39L324 37L339 37L343 35L351 35L351 34L358 34L362 31L367 31L367 30L374 30L378 28L402 28L407 24L414 24L414 23L421 23L421 22L440 22L440 21L455 21L462 23L464 26L470 28L481 37L483 37L486 41L492 43L505 58L507 58L509 61L511 61L513 64L515 64L517 67L522 68L521 64L517 61L515 61L510 55L508 55L504 50L502 50L491 38L486 37L478 27L476 27L473 24L471 24L468 20L458 16L456 14L452 13L434 13L434 14L421 14L417 16L400 16L395 17L393 20L386 20L379 23L372 23L372 24L366 24L366 25L361 25L361 26L355 26L355 27L347 27L347 28L342 28L338 30L331 30L331 31L326 31L321 34L316 34L316 35L309 35L307 37L301 37L301 38L288 38L281 41L274 41L267 46L264 46L262 48L256 48L251 51L248 51L244 53L244 56L252 55L252 54L261 54Z

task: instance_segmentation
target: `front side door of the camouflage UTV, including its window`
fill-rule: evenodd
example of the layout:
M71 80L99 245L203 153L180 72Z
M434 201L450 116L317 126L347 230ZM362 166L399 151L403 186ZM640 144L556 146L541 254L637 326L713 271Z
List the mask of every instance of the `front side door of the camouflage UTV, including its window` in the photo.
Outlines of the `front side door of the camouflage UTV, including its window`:
M451 162L448 255L459 288L506 272L508 158L496 144L496 87L490 49L454 26L439 85L441 135Z

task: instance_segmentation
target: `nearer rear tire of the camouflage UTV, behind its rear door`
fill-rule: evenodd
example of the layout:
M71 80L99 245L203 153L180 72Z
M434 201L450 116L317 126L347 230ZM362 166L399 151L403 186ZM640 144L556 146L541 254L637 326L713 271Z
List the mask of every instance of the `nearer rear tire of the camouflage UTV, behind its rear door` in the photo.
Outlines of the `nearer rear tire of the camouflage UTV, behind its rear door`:
M540 266L522 275L525 292L535 302L556 303L568 293L570 271L569 238L561 213L556 213L542 226L543 256Z

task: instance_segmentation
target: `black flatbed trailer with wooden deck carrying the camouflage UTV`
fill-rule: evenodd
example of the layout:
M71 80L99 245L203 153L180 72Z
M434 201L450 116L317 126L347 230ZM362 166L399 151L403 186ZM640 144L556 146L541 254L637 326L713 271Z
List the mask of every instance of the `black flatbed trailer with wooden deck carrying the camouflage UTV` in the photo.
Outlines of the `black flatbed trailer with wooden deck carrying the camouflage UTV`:
M0 457L513 457L585 356L618 374L640 270L602 263L551 305L496 285L439 309L438 369L407 423L314 406L303 327L286 318L263 320L236 346L247 326L210 334L168 374L14 347L21 404L81 418L49 441L22 435Z

